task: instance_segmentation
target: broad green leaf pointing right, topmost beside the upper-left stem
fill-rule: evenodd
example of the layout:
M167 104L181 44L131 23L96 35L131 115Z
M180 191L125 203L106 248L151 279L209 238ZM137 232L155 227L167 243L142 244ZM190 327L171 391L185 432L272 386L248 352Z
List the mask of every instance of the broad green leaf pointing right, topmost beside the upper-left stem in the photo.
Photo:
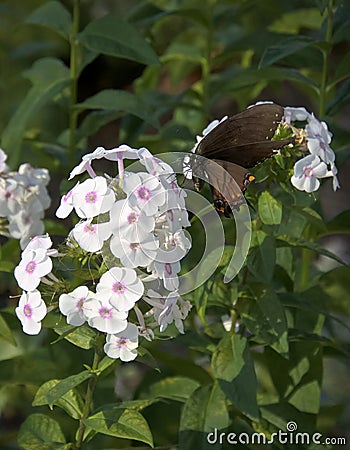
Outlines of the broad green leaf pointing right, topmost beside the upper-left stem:
M126 58L142 64L159 64L158 57L144 37L118 16L106 15L90 22L78 34L88 49L104 55Z

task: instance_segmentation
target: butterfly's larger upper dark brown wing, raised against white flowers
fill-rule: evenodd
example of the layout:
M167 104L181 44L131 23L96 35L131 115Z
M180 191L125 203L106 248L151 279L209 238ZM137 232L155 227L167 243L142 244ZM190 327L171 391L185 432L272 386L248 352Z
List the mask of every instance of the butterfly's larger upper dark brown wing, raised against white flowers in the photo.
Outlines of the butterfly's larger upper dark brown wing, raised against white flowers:
M255 105L236 114L210 131L196 153L209 159L253 167L293 141L271 141L284 114L275 103Z

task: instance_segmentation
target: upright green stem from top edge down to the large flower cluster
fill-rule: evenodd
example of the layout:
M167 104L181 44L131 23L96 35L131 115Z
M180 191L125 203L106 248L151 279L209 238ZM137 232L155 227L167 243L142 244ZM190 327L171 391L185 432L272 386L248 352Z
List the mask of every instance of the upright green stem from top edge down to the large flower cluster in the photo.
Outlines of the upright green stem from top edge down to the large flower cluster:
M79 44L76 35L79 32L80 0L74 0L73 5L73 29L70 37L70 105L69 105L69 164L75 164L76 129L78 124L78 112L74 109L78 100L78 51Z

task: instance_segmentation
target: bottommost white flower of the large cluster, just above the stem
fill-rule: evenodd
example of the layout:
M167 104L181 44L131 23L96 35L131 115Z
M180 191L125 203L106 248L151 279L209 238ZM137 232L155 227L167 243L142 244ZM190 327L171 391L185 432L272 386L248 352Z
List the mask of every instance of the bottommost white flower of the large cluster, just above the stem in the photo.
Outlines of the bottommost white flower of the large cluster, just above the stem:
M124 362L133 361L137 356L138 336L137 326L132 323L128 323L125 330L119 333L107 334L104 346L106 355Z

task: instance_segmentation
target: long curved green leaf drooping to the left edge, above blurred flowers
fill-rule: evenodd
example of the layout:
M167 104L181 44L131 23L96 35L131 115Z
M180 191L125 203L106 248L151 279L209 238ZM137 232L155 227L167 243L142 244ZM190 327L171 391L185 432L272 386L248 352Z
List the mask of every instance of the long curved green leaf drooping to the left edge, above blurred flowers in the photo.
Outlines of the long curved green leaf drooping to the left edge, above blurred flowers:
M31 117L45 104L52 101L69 85L69 70L58 59L43 58L25 72L33 83L10 122L2 133L1 146L9 154L9 165L16 166L24 132Z

